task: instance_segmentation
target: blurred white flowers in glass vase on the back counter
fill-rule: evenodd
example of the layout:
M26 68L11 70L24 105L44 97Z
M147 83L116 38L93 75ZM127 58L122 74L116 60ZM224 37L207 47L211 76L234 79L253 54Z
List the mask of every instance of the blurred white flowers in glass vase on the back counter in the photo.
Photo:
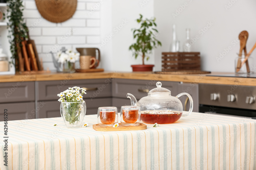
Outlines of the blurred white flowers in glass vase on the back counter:
M79 53L68 49L65 52L59 51L55 58L60 65L63 65L63 72L74 72L75 62L79 60L79 56Z

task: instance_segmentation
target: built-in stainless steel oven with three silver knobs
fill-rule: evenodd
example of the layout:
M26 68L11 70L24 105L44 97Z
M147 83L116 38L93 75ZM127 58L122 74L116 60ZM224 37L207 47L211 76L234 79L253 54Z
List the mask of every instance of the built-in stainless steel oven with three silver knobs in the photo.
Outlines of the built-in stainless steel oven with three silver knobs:
M199 84L199 112L256 119L256 87Z

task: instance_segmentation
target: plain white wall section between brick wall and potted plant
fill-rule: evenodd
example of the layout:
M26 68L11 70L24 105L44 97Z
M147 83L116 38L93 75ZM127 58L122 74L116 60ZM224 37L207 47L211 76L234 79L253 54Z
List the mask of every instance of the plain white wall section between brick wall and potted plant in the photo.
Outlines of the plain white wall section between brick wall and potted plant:
M132 64L142 64L142 58L136 60L131 56L132 52L128 50L129 46L134 42L132 28L138 28L135 19L139 18L139 14L144 17L153 17L153 0L146 1L130 0L107 0L102 3L102 33L100 43L102 44L107 37L111 36L111 40L104 45L101 50L104 58L103 67L106 70L116 71L132 71ZM118 27L118 28L116 28ZM112 33L112 34L111 34ZM110 39L110 38L109 38ZM108 40L107 40L108 41ZM104 44L104 43L103 43ZM150 55L147 64L154 64L154 55Z

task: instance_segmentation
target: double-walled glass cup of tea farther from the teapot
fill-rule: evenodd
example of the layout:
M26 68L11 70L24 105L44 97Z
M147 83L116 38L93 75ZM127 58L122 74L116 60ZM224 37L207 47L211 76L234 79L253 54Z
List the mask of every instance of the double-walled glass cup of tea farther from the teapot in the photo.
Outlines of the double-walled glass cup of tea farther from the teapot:
M113 127L118 123L118 112L116 107L99 107L98 124L101 127Z

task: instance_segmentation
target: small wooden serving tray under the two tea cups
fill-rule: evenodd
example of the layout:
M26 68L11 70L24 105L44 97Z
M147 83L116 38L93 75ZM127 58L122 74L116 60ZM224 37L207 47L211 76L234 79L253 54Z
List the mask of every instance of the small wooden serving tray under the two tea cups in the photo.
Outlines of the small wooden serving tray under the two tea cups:
M140 123L138 126L122 126L121 123L119 123L118 127L100 127L99 124L94 124L92 128L96 131L144 130L147 129L147 125Z

